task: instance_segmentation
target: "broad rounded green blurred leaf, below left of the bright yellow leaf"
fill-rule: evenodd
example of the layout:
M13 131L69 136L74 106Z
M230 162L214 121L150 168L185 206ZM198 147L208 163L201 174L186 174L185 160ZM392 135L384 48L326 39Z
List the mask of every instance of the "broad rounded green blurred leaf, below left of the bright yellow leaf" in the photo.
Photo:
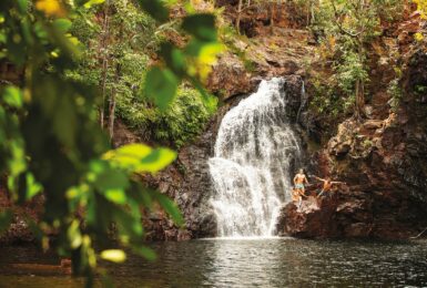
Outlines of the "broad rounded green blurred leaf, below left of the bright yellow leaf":
M145 79L145 94L161 111L165 111L176 95L179 80L169 69L152 68Z

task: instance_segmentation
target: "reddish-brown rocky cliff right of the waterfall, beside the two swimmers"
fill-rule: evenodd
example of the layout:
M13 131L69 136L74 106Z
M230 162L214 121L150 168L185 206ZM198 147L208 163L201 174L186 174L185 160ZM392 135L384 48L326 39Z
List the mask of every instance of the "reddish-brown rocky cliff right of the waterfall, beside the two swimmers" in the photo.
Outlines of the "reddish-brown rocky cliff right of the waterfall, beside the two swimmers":
M377 52L370 79L372 100L363 121L345 120L323 148L312 154L312 172L346 182L331 197L307 198L301 209L288 204L277 228L297 237L407 238L427 227L427 56L425 33L415 13L390 37L380 39L394 59ZM401 95L397 109L386 91L392 61L401 63ZM383 63L383 64L380 64Z

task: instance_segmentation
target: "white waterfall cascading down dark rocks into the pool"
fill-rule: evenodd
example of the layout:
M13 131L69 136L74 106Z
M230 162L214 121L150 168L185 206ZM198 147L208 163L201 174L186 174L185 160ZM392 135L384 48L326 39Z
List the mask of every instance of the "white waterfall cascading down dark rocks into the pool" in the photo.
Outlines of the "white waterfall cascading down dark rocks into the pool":
M286 119L284 84L278 78L262 81L221 122L209 160L221 237L272 236L279 208L291 198L291 169L301 147Z

